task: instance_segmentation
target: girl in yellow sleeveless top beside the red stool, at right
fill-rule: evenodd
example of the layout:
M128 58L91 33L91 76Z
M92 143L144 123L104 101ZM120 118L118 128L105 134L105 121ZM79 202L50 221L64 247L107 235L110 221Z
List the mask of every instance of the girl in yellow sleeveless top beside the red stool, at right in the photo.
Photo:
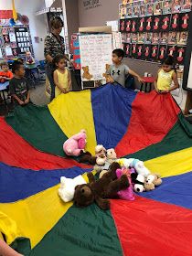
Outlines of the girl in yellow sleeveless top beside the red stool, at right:
M174 86L172 85L174 81ZM158 70L157 78L155 80L155 91L157 93L167 93L169 91L174 91L179 88L176 69L174 65L174 58L168 56L162 65L162 69Z

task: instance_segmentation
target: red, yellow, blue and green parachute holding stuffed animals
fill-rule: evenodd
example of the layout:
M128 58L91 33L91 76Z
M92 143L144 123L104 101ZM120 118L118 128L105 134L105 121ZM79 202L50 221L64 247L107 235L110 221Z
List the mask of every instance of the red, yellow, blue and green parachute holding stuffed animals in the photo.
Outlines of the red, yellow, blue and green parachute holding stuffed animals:
M87 150L114 147L163 184L112 208L76 208L58 196L59 177L91 171L64 155L80 129ZM60 95L48 106L0 118L0 237L24 255L192 255L192 126L171 95L110 84Z

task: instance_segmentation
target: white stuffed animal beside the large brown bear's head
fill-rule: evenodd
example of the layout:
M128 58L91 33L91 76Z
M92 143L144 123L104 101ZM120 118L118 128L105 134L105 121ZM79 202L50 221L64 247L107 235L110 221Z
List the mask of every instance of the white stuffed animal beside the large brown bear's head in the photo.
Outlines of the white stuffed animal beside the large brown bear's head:
M60 177L59 197L65 202L69 202L73 199L75 193L75 187L87 182L82 176L76 176L75 178L67 178L65 176Z

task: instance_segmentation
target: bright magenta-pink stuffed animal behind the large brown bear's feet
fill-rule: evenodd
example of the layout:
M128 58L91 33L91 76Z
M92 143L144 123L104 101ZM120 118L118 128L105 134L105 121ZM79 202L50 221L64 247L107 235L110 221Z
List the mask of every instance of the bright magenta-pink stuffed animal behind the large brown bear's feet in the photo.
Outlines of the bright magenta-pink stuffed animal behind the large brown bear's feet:
M131 180L131 177L130 177L130 171L127 170L127 169L124 169L124 168L116 170L116 176L118 178L120 178L123 175L126 175L128 177L130 186L127 187L124 190L121 190L121 191L117 192L117 194L121 199L133 201L134 200L134 193L133 193L132 180Z

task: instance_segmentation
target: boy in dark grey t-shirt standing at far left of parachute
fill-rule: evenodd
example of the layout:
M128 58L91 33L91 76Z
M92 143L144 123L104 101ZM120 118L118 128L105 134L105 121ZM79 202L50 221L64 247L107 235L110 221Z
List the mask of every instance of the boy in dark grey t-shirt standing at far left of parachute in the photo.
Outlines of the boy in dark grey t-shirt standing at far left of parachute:
M29 83L25 76L24 64L15 61L12 66L14 78L9 82L10 94L16 104L26 105L30 101Z

